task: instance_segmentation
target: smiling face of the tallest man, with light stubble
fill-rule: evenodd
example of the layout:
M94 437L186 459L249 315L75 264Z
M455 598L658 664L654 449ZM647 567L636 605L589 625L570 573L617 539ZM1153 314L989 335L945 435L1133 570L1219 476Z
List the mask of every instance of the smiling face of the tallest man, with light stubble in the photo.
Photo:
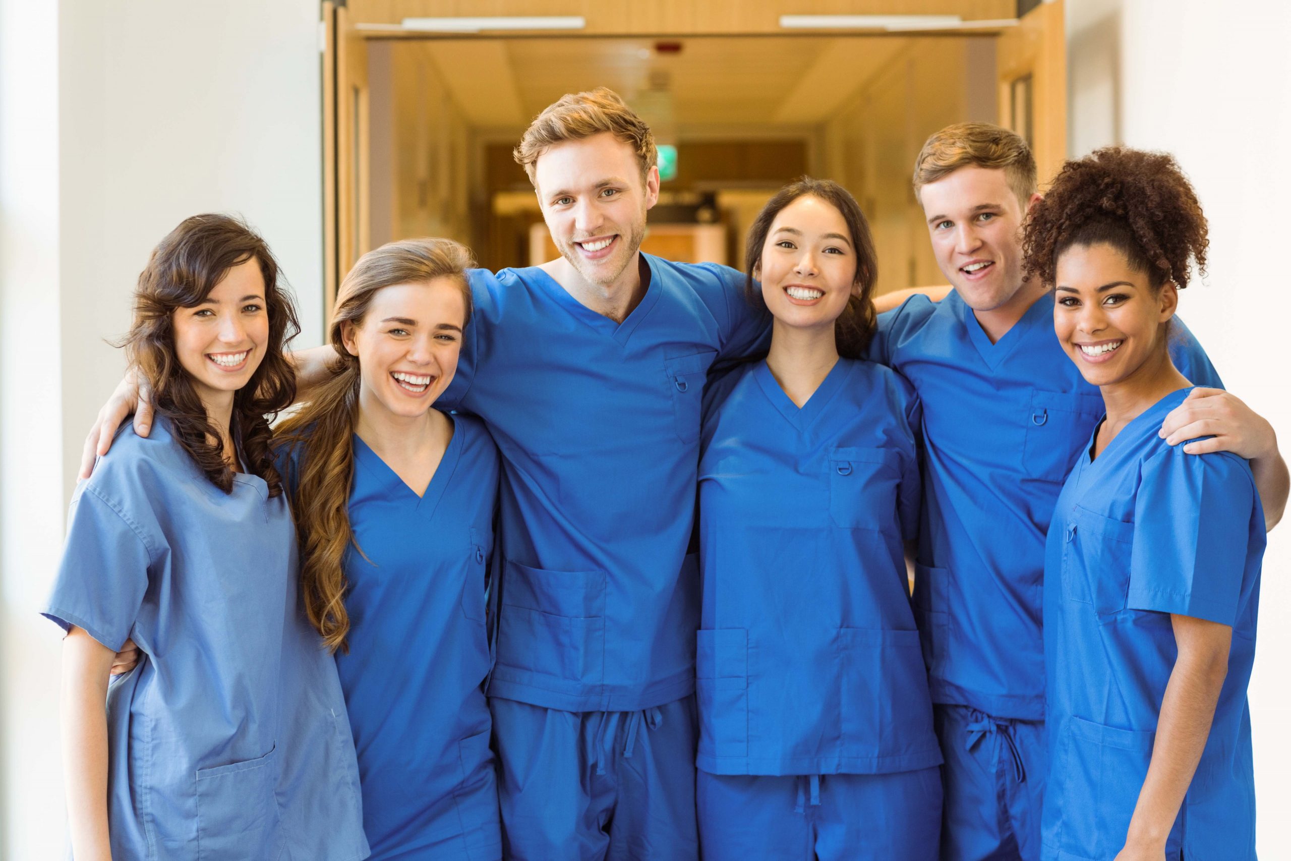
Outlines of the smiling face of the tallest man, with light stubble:
M633 147L604 132L551 146L538 156L533 182L562 257L587 281L615 284L646 238L658 169L643 181Z

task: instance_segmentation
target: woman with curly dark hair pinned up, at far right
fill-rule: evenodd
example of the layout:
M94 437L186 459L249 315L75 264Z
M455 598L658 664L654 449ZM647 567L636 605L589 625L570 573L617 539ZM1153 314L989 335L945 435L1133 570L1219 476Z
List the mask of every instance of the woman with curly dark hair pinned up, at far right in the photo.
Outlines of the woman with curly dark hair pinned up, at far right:
M1175 160L1123 147L1068 163L1026 225L1057 339L1106 407L1046 549L1046 858L1255 858L1264 514L1245 460L1158 434L1193 387L1167 341L1206 245Z

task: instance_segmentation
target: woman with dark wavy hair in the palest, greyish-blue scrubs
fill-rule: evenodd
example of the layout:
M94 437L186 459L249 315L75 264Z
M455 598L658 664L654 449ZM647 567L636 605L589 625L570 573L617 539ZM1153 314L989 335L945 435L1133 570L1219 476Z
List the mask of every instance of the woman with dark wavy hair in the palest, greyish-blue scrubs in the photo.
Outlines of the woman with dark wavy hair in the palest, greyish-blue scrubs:
M272 254L238 219L187 218L139 276L124 346L156 423L120 434L77 487L44 611L67 631L77 861L367 855L340 684L296 602L270 445L296 391L283 347L297 330ZM110 683L128 638L142 660Z

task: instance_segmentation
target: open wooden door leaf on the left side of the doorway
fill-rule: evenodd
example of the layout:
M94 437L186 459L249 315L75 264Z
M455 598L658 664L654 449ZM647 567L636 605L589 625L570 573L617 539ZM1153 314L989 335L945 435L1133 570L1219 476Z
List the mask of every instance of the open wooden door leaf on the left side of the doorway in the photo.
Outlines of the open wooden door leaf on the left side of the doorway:
M368 48L347 8L323 3L324 307L354 262L369 250L371 176Z

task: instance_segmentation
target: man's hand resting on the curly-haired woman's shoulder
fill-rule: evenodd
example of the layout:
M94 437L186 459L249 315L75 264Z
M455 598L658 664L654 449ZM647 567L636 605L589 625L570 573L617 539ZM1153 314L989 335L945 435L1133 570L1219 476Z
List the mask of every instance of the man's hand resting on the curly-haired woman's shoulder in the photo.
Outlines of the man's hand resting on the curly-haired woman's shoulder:
M1170 445L1198 436L1212 438L1185 445L1189 454L1233 452L1255 461L1278 453L1273 425L1223 389L1193 389L1184 403L1166 416L1161 436Z

